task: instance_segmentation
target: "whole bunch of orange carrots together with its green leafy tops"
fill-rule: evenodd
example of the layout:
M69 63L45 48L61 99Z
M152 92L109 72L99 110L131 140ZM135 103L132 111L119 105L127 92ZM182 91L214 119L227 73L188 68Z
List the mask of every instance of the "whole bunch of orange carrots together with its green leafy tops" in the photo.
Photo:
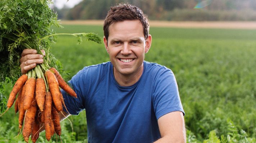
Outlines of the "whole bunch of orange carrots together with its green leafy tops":
M52 0L0 0L0 66L5 67L0 68L0 95L3 83L17 81L10 93L7 110L16 100L14 106L15 112L19 112L19 134L22 131L26 142L30 135L36 142L43 128L47 140L51 139L54 132L60 135L59 120L65 108L60 88L76 97L58 71L51 68L61 68L55 64L57 60L50 50L56 36L75 36L78 44L82 43L82 37L101 43L101 38L95 33L56 33L52 27L62 26L57 14L49 8L51 3ZM19 59L24 49L35 49L38 54L45 50L46 55L44 63L37 64L36 68L19 77Z

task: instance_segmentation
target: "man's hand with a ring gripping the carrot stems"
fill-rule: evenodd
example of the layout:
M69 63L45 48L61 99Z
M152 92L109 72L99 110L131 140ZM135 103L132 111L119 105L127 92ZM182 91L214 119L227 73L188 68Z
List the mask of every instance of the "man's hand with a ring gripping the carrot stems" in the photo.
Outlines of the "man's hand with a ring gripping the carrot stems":
M21 53L20 69L22 74L26 74L29 70L36 67L36 64L43 63L45 51L41 50L43 55L37 54L35 49L24 49Z

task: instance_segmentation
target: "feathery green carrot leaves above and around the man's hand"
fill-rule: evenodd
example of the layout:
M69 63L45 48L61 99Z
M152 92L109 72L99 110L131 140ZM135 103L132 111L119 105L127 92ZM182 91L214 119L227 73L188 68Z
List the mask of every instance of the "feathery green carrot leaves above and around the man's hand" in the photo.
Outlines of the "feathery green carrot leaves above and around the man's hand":
M56 35L65 35L56 34L51 28L62 27L57 14L48 6L51 3L51 0L0 0L0 93L3 93L6 82L14 84L20 77L19 59L24 49L36 49L38 53L45 50L44 61L47 63L44 65L62 69L50 50ZM78 43L82 42L83 36L101 43L94 33L67 35L76 36Z

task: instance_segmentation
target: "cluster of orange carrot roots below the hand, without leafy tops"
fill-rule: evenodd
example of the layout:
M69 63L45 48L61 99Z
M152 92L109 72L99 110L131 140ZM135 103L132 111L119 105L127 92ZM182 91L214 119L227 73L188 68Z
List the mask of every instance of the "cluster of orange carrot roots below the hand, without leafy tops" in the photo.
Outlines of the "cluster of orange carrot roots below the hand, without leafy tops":
M43 127L48 141L54 133L61 135L60 113L65 103L59 87L77 97L55 68L47 69L43 64L23 74L14 84L7 110L16 99L14 109L15 113L19 112L19 130L23 126L22 133L26 142L31 135L35 143Z

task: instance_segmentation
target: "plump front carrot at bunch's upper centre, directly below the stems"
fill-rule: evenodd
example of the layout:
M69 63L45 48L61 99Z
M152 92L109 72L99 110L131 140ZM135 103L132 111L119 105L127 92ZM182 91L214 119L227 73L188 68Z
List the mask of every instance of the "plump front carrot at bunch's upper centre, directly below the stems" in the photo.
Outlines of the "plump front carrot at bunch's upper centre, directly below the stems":
M36 79L36 102L41 112L44 111L45 94L46 94L45 81L43 78L37 78Z

